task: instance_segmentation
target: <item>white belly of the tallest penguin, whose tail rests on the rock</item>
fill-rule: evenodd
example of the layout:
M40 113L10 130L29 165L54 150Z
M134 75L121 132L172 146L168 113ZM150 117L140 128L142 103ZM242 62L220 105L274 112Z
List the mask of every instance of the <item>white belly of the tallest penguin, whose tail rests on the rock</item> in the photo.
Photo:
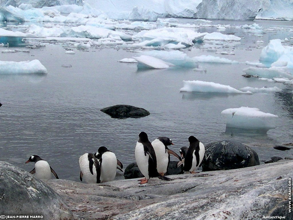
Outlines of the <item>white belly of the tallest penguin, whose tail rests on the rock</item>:
M135 161L137 163L137 166L144 175L144 177L148 180L149 179L149 155L144 155L144 145L137 141L135 146Z

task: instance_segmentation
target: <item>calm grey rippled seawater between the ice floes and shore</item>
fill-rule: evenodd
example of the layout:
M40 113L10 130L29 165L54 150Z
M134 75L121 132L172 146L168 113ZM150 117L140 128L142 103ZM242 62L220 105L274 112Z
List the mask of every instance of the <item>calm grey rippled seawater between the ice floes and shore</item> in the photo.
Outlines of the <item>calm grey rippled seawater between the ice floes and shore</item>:
M193 23L192 19L182 19ZM213 24L242 25L252 21L214 21ZM241 42L204 42L183 50L188 56L214 55L240 62L257 62L261 48L271 39L291 42L292 23L257 21L268 27L263 37L245 33L240 28L227 28L221 33L235 33ZM198 32L214 32L216 28L200 28ZM263 40L263 44L256 44ZM220 43L220 45L219 45ZM0 74L0 160L27 171L33 163L25 164L32 154L47 160L60 178L79 181L78 158L86 152L96 152L99 146L113 151L126 167L135 161L134 147L141 131L149 139L167 136L176 144L177 151L188 146L188 137L196 136L204 144L221 139L235 139L242 143L289 142L293 139L292 85L272 83L256 78L244 78L242 70L248 65L200 63L206 73L192 68L175 67L163 70L137 71L136 64L117 62L137 53L119 48L91 47L88 51L74 50L65 54L62 44L41 43L43 47L29 53L1 53L2 61L38 59L48 74ZM233 51L235 55L221 55L207 51ZM0 51L6 48L1 47ZM62 67L62 65L72 67ZM180 93L183 80L212 81L234 88L245 86L277 86L281 92L269 94L215 94ZM150 115L140 119L113 119L100 112L101 108L128 104L145 108ZM263 112L278 115L277 127L267 133L258 131L227 131L225 118L220 114L226 108L256 107ZM233 132L233 136L231 136ZM293 152L277 151L267 147L255 149L260 160L271 156L291 156Z

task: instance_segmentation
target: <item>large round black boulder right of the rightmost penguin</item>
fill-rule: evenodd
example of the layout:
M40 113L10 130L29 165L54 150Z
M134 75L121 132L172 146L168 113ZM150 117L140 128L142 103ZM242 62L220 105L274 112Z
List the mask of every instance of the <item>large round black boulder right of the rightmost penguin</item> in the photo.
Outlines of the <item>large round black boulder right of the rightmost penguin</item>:
M259 165L257 153L238 141L223 140L206 146L202 170L230 170Z

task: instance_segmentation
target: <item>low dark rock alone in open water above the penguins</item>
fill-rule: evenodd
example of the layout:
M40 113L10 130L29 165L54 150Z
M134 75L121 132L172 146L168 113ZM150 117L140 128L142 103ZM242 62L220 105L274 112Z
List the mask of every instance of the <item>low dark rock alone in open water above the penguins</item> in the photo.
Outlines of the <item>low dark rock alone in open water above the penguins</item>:
M113 118L140 118L150 114L149 111L145 110L144 108L139 108L132 105L113 105L102 108L101 111Z

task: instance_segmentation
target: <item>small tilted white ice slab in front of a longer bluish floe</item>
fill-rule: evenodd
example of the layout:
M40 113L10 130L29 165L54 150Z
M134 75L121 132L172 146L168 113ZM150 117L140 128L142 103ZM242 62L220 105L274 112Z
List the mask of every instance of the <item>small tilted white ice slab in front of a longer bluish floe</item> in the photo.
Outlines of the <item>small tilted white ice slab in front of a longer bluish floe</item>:
M171 63L167 63L156 57L151 57L147 55L141 55L139 57L133 57L137 61L137 68L152 68L152 69L166 69L169 66L174 66Z

